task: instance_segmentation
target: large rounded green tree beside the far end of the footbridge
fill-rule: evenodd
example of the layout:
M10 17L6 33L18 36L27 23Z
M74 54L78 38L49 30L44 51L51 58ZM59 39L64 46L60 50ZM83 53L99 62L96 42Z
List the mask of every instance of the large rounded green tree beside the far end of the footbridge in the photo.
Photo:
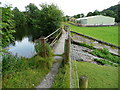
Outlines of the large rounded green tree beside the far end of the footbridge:
M63 13L54 4L41 4L40 6L39 25L42 27L42 31L46 32L44 35L48 35L61 26Z

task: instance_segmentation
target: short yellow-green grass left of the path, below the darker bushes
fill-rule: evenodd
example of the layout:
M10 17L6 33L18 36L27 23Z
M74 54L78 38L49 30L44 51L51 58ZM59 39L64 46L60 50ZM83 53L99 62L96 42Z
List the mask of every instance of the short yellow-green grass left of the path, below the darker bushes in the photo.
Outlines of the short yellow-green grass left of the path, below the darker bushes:
M35 88L48 72L48 69L27 69L4 76L3 88Z

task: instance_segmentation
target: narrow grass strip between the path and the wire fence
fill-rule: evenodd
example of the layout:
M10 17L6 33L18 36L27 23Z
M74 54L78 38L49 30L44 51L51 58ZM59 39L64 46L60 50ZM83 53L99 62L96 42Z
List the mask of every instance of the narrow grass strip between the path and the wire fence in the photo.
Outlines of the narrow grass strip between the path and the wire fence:
M52 88L70 88L70 68L69 64L61 64L58 74L55 77Z

